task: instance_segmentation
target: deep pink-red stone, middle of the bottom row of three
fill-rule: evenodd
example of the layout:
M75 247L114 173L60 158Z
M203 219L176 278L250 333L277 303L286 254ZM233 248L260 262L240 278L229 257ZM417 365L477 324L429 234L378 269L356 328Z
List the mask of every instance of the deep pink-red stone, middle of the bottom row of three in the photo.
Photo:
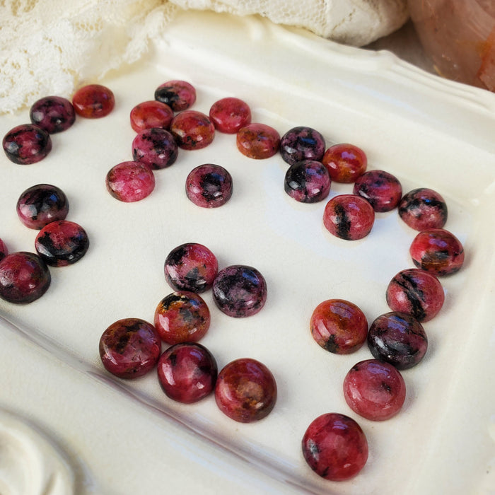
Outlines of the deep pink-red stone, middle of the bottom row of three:
M206 347L196 342L175 344L158 360L158 381L172 400L192 404L213 392L218 368Z

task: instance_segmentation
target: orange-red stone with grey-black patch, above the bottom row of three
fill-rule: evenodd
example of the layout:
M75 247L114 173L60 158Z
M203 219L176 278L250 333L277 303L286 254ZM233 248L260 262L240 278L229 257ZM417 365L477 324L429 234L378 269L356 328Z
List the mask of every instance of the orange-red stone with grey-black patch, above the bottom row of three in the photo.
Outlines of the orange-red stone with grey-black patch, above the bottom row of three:
M158 303L154 323L167 344L197 342L209 329L210 311L196 293L175 291Z

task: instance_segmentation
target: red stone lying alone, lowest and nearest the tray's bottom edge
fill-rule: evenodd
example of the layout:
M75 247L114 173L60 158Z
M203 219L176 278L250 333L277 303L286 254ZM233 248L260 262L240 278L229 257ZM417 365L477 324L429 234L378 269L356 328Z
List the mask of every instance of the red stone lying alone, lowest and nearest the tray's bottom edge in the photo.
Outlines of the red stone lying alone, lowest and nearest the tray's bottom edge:
M302 448L310 468L335 482L356 476L368 460L368 441L361 426L334 412L322 414L310 423Z

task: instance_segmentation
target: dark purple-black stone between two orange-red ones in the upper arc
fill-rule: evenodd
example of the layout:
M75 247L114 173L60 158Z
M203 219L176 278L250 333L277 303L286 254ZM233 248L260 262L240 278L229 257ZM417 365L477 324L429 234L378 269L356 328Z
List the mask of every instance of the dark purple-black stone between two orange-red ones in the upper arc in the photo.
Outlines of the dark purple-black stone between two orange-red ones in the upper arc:
M325 146L325 138L320 132L311 127L298 126L281 137L280 155L289 165L303 160L321 161Z

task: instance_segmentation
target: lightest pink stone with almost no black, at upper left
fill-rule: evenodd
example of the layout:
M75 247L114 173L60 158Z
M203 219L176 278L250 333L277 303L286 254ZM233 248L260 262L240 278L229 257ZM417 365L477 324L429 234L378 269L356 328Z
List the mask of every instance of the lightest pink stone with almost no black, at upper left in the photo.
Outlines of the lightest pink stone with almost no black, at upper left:
M131 203L149 196L155 188L151 169L136 161L124 161L107 173L107 190L115 199Z

